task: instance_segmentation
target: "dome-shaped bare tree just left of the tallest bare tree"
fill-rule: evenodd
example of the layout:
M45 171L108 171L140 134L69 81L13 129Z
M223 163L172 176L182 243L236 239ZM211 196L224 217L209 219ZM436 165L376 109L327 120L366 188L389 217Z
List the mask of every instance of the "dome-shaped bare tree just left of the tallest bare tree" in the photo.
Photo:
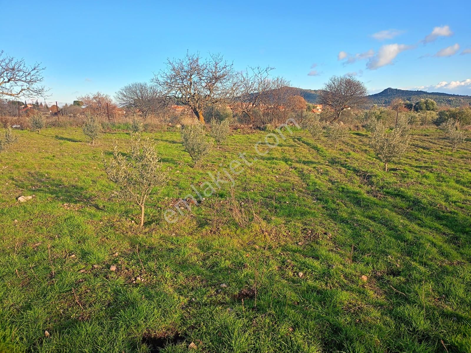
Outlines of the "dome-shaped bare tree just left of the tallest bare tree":
M166 105L165 97L157 86L146 82L135 82L116 92L119 105L138 109L144 117L154 114Z

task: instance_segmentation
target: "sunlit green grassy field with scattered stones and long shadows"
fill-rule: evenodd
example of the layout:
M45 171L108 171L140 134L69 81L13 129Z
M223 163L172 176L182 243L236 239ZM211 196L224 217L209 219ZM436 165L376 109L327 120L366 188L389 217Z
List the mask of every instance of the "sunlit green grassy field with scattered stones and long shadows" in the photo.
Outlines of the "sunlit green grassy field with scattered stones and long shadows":
M451 152L413 131L386 173L365 132L334 152L295 131L168 224L266 133L235 132L197 169L178 132L145 133L170 182L141 229L101 156L129 134L16 134L0 154L0 352L471 352L469 139Z

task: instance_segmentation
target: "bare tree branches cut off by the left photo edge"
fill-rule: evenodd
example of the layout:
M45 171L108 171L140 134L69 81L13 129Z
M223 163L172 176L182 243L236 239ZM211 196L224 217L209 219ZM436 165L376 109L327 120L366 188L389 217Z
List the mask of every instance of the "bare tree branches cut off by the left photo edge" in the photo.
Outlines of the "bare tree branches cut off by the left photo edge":
M0 97L42 97L46 89L40 63L27 65L23 59L4 55L0 51Z

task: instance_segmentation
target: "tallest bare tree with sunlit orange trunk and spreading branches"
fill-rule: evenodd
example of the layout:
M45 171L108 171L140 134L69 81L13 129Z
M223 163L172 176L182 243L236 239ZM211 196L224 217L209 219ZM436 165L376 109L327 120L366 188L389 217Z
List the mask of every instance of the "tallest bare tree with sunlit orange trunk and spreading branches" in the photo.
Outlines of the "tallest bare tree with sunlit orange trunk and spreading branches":
M227 99L234 83L232 64L219 54L202 59L189 54L183 59L168 59L167 67L152 80L174 103L187 105L204 124L203 108Z

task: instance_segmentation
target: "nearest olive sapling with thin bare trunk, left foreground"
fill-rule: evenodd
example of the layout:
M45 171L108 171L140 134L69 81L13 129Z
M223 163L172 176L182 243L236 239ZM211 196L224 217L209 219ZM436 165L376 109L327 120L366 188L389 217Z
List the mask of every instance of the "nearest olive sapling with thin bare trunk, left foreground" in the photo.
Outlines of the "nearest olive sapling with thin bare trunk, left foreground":
M140 136L134 135L131 150L124 155L115 142L113 158L109 161L104 159L103 163L106 175L119 187L118 197L140 207L140 225L143 226L146 201L167 181L167 172L162 169L154 144L148 138L141 143Z

